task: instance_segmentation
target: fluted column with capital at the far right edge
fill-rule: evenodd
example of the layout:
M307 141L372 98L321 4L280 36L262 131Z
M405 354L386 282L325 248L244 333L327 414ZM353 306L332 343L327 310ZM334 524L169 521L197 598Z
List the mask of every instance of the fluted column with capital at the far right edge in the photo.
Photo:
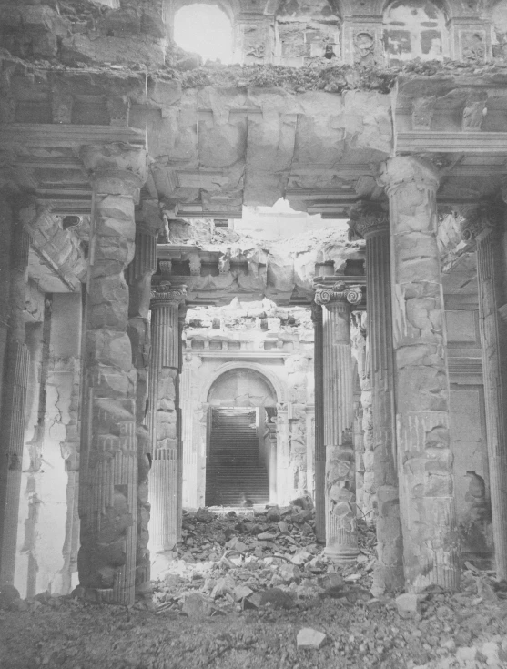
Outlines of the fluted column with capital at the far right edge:
M505 192L507 201L507 192ZM482 348L484 405L492 531L496 576L507 579L507 324L500 318L506 309L502 290L502 234L504 212L488 205L466 208L465 241L475 241L479 287L479 330Z

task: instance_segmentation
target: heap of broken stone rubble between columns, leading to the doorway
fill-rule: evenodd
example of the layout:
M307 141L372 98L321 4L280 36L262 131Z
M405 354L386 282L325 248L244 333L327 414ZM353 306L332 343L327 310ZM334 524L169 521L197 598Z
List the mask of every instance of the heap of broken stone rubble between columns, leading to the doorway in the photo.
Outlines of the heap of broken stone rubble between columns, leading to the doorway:
M138 605L202 617L304 608L316 597L369 601L375 541L374 529L360 522L359 559L340 569L316 542L315 512L305 498L249 512L187 512L178 554L153 602Z

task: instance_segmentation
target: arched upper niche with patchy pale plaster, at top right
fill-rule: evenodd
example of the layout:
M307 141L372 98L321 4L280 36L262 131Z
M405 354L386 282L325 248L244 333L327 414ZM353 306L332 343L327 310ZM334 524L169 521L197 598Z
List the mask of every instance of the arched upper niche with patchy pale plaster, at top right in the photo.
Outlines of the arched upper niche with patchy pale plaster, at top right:
M383 25L384 49L391 64L449 56L447 17L440 4L395 0L384 10Z

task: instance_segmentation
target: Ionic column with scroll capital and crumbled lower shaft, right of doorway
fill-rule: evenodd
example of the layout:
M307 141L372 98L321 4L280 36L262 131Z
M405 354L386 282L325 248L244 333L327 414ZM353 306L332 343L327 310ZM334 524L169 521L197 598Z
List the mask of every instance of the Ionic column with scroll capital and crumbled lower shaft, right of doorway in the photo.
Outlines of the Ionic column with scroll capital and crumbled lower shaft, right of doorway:
M324 444L326 447L326 548L338 563L359 554L352 441L353 388L350 350L350 304L359 304L360 289L336 283L317 288L322 307Z

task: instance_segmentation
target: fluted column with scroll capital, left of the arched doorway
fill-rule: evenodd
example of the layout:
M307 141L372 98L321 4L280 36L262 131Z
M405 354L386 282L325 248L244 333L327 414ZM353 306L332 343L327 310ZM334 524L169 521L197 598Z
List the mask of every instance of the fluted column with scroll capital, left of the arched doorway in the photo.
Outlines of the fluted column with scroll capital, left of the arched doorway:
M185 288L171 289L170 283L163 281L152 292L151 299L150 545L157 552L154 558L158 572L165 568L164 553L172 551L177 543L177 377L180 350L178 309L185 295Z

